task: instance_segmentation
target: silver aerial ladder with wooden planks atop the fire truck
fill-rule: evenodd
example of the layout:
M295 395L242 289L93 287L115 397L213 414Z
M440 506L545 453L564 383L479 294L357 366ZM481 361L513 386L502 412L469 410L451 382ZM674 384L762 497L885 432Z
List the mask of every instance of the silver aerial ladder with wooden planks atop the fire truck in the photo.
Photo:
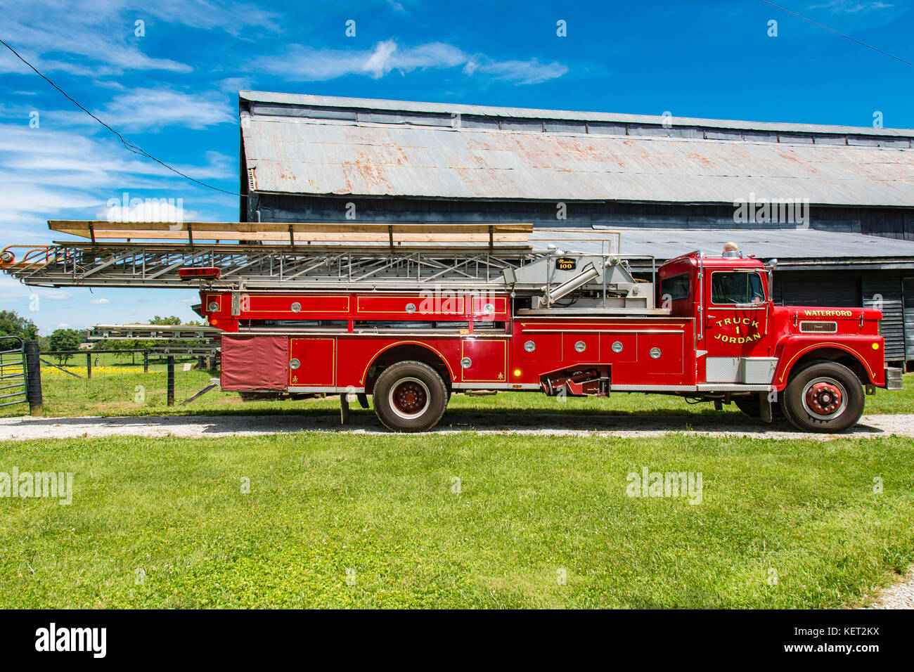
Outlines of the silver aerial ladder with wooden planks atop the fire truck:
M45 287L199 286L252 291L507 291L529 310L660 315L653 284L619 256L619 233L576 236L530 224L107 222L50 220L82 240L9 245L0 270ZM558 244L557 244L558 243ZM654 272L651 257L641 268ZM105 330L112 334L112 325ZM135 331L135 329L134 329ZM160 335L161 336L161 335ZM123 336L128 337L128 336ZM149 336L153 337L153 336Z

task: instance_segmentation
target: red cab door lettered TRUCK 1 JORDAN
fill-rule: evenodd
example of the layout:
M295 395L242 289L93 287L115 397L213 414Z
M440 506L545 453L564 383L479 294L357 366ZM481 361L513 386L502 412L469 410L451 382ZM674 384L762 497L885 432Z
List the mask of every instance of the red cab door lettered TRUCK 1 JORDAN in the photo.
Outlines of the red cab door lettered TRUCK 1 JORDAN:
M771 382L775 358L770 357L768 337L771 296L767 274L756 269L707 269L705 285L706 381Z

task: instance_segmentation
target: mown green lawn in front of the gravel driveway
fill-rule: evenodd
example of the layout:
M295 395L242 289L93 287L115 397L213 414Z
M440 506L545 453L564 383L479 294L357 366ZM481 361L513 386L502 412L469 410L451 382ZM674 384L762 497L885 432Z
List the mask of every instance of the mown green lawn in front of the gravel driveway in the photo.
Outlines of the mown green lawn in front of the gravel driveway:
M0 471L74 474L70 506L0 499L0 607L854 605L914 559L912 448L473 432L0 443ZM701 472L701 503L627 496L644 466Z

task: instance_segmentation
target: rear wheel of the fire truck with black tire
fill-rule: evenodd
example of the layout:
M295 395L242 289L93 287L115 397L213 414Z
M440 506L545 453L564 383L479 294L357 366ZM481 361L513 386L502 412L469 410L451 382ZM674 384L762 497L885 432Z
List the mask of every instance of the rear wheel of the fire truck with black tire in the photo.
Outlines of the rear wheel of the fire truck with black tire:
M392 432L426 432L448 405L448 389L438 372L413 361L385 368L372 396L377 419Z

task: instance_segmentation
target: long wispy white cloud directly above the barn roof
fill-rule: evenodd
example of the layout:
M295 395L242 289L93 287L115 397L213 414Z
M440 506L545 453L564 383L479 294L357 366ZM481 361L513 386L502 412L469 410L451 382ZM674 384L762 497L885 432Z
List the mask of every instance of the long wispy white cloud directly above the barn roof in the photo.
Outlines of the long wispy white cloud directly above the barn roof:
M482 72L495 79L535 84L561 77L568 67L540 63L537 59L497 60L484 54L469 55L443 42L400 48L396 41L378 42L369 50L318 49L296 45L282 56L259 59L261 69L282 74L290 80L334 80L346 75L380 79L392 71L463 68L467 75Z

